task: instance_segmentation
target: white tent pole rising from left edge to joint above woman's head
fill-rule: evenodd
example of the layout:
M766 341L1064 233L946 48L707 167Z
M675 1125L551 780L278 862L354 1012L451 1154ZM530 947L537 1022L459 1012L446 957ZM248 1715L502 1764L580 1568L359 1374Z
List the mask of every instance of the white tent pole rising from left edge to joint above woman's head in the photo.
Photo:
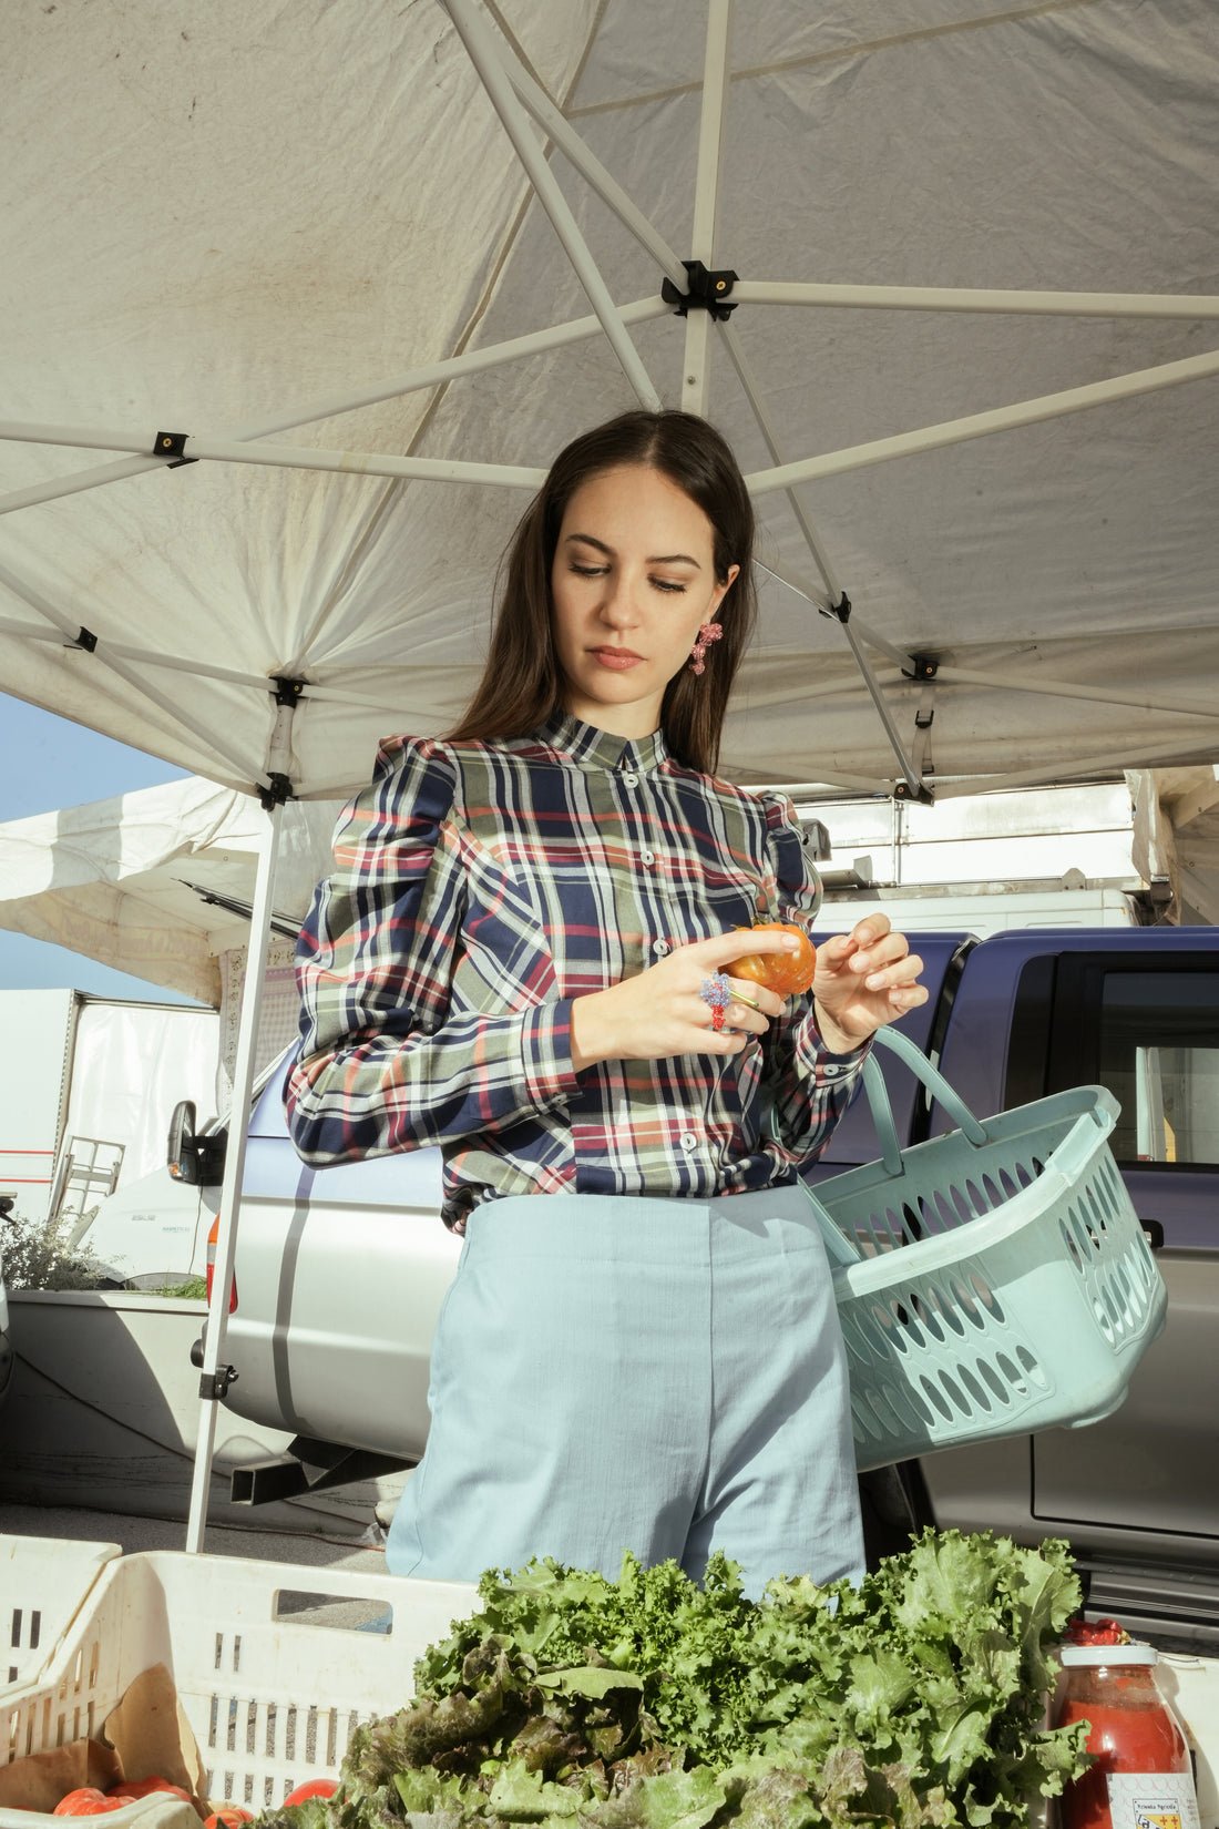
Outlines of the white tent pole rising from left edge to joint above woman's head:
M623 324L647 324L652 318L667 318L673 305L656 293L651 298L636 298L629 305L618 307ZM274 437L278 432L291 432L296 426L311 424L316 419L331 419L336 413L353 413L360 406L376 406L404 393L420 393L424 388L439 388L446 380L461 375L473 375L506 362L517 362L530 355L561 349L567 344L583 342L601 335L601 322L596 316L572 318L567 324L554 324L543 331L530 331L526 337L512 337L503 344L488 344L482 349L464 349L461 355L446 357L442 362L429 362L424 368L408 369L389 380L375 382L355 393L333 393L303 406L294 406L261 419L254 424L238 426L234 432L219 433L221 439L245 443L249 439ZM44 443L31 439L29 443ZM71 443L71 441L69 441ZM102 446L108 448L108 446ZM148 450L148 446L139 446ZM128 476L143 476L148 470L164 470L163 457L121 457L115 463L99 465L93 470L75 470L71 476L53 477L46 483L33 483L29 488L13 490L0 496L0 514L13 514L16 508L33 508L40 501L58 501L62 496L75 496L86 488L101 488L104 483L117 483Z

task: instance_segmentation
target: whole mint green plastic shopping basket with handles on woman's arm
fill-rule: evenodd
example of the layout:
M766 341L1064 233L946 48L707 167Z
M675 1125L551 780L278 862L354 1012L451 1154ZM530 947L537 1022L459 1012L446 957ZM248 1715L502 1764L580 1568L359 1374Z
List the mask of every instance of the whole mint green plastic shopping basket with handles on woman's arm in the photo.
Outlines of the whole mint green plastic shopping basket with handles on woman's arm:
M903 1150L870 1057L881 1161L808 1189L833 1264L859 1469L1100 1421L1168 1306L1109 1150L1117 1099L1075 1086L978 1121L908 1037L883 1028L875 1041L959 1128Z

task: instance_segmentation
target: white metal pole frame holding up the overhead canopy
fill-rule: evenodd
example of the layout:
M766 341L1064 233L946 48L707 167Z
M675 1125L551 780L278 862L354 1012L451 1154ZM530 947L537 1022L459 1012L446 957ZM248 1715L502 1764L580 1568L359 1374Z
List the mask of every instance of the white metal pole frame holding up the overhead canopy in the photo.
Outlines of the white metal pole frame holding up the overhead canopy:
M784 492L804 545L808 549L808 571L775 569L790 589L806 598L808 605L821 616L830 618L839 629L846 651L857 669L859 682L879 719L888 748L894 757L894 779L864 779L850 774L826 775L832 785L864 786L872 792L894 792L899 797L930 799L927 774L921 766L917 746L908 746L903 739L896 717L886 699L886 688L897 680L921 679L925 693L934 697L938 682L943 684L985 684L1003 690L1045 693L1064 701L1091 701L1113 706L1140 706L1148 710L1170 711L1184 721L1186 730L1197 732L1197 744L1214 744L1219 733L1219 704L1197 701L1171 701L1150 693L1109 690L1104 686L1080 686L1069 680L1045 680L1007 677L991 671L941 666L934 658L906 651L901 644L868 627L863 618L852 615L850 596L833 560L821 538L808 505L800 497L800 488L811 481L843 476L892 459L917 455L949 444L961 444L991 433L1016 426L1029 426L1047 419L1060 419L1089 408L1115 401L1128 401L1142 393L1186 386L1219 375L1219 349L1193 355L1182 360L1164 362L1153 368L1137 369L1108 380L1086 386L1065 388L1038 399L1014 401L989 412L969 413L939 424L925 424L916 430L899 432L888 437L872 439L863 444L826 452L821 455L793 455L780 444L779 432L771 422L760 388L749 364L747 337L742 337L731 311L738 305L758 309L799 309L799 311L835 311L835 309L881 309L916 313L1000 313L1000 315L1042 315L1073 318L1175 318L1192 322L1210 322L1219 318L1219 296L1166 296L1166 294L1126 294L1126 293L1045 293L1045 291L987 291L987 289L941 289L941 287L903 287L903 285L819 285L793 283L782 280L740 280L735 273L716 267L722 258L718 247L718 201L720 170L726 144L726 121L729 102L729 33L733 20L733 0L707 0L707 29L702 77L702 106L698 128L698 155L694 181L694 210L689 260L667 245L647 216L603 168L590 146L565 119L556 101L525 70L510 44L499 37L488 20L482 0L439 0L444 5L457 35L461 37L470 62L477 70L481 84L490 97L504 134L508 135L521 166L528 174L534 196L546 212L557 241L561 243L572 271L590 305L590 315L570 322L539 329L508 342L490 344L479 349L464 349L446 360L431 362L400 375L391 375L382 382L351 390L342 395L329 395L287 406L269 419L241 424L227 432L210 435L207 432L157 430L141 426L82 426L82 424L44 424L26 421L0 422L0 439L31 444L64 444L82 450L121 452L101 466L75 472L48 483L0 496L0 514L15 514L37 503L104 488L110 483L148 474L183 463L217 465L265 465L281 468L307 468L336 472L342 476L378 476L408 477L428 483L475 483L488 488L534 490L543 479L543 472L530 466L508 466L492 463L461 463L429 457L400 457L384 452L316 450L283 444L280 433L314 421L329 419L336 413L369 406L378 401L395 399L420 390L435 390L462 377L519 362L523 358L561 349L588 338L603 337L609 342L634 397L649 408L660 404L660 391L649 375L640 349L632 338L636 326L651 320L682 315L682 404L691 412L704 412L707 404L707 384L713 362L727 357L731 373L747 401L762 441L769 452L771 465L755 470L747 485L755 496ZM539 139L541 134L541 139ZM603 205L618 218L621 227L647 251L656 263L662 291L629 304L616 304L609 283L599 271L588 243L568 207L559 183L548 165L548 141L568 161L572 170L596 192ZM24 622L0 618L0 633L18 635L33 642L69 644L88 649L95 662L115 671L152 706L168 715L175 724L203 735L199 722L192 721L188 708L181 704L166 688L148 679L148 669L155 673L190 671L249 688L256 693L270 693L276 702L276 721L267 746L267 754L254 757L241 748L227 744L214 728L207 730L207 743L223 755L238 772L243 783L258 792L267 808L267 840L260 860L254 911L250 924L250 958L265 953L269 922L274 894L274 867L280 830L280 808L287 797L302 790L302 783L291 779L291 739L292 721L307 708L309 701L333 701L347 704L367 704L366 697L351 697L342 686L318 686L307 679L261 679L254 673L223 668L217 664L185 662L172 653L154 651L141 646L122 646L102 640L90 629L80 627L79 616L60 604L51 602L46 593L31 582L20 578L11 567L0 565L0 583L27 604L38 618ZM830 688L841 691L841 686ZM1190 748L1192 737L1175 744L1171 755ZM1155 754L1144 754L1142 761L1155 761ZM1122 766L1117 754L1098 754L1067 770L1067 774L1089 774ZM1007 772L992 786L1033 785L1036 781L1062 777L1060 766L1029 768ZM333 783L309 783L311 796L323 797L334 792ZM938 792L970 792L974 783L950 783ZM192 1487L190 1522L186 1546L199 1549L207 1520L207 1489L212 1461L212 1439L216 1423L216 1399L223 1388L223 1339L228 1286L232 1278L236 1225L239 1213L239 1185L245 1158L245 1114L249 1112L254 1077L254 1035L260 1006L260 979L250 973L241 1004L241 1026L238 1064L234 1081L234 1127L225 1167L223 1200L219 1213L217 1273L214 1280L212 1304L208 1315L207 1355L201 1379L201 1425L199 1449L196 1458L196 1478Z

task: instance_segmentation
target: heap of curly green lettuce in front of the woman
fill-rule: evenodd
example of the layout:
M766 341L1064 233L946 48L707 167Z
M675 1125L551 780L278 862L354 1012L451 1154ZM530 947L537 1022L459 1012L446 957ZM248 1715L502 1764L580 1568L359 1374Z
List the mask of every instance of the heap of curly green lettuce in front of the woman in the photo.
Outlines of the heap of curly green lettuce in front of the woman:
M356 1728L327 1824L274 1829L1025 1829L1087 1761L1042 1727L1080 1604L1065 1544L925 1531L852 1588L758 1602L623 1558L488 1571L482 1610Z

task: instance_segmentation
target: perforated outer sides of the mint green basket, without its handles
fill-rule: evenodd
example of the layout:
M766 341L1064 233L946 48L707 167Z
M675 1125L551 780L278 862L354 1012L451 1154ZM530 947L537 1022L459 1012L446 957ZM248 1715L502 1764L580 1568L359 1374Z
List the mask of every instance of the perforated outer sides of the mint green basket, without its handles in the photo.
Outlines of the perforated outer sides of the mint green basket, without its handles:
M1051 1152L987 1216L835 1271L861 1469L1120 1403L1166 1291L1108 1141L1071 1145L1069 1176Z

